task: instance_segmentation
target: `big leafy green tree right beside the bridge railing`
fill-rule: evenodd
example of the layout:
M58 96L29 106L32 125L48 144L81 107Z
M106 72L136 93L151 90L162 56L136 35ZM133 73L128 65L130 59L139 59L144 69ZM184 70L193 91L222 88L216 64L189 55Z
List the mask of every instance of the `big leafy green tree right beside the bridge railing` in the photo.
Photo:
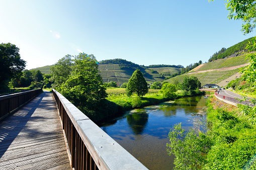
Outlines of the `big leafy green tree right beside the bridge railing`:
M90 110L97 110L101 101L107 97L96 61L94 55L80 53L75 56L69 78L56 88L89 117L92 113Z

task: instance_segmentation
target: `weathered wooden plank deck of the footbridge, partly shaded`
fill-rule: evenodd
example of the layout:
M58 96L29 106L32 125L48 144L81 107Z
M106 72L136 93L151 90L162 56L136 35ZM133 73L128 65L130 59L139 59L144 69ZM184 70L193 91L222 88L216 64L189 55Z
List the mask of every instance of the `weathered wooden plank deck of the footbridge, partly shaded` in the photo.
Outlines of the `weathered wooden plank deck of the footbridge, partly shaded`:
M50 92L0 121L0 169L71 169Z

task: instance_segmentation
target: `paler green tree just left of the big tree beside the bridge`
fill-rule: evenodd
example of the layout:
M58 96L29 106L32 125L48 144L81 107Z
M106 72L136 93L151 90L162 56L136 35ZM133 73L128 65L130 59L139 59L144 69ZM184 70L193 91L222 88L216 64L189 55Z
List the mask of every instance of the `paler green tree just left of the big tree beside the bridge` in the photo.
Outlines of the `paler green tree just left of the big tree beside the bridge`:
M52 77L49 80L53 82L53 88L60 86L69 78L72 66L72 56L66 55L51 68Z

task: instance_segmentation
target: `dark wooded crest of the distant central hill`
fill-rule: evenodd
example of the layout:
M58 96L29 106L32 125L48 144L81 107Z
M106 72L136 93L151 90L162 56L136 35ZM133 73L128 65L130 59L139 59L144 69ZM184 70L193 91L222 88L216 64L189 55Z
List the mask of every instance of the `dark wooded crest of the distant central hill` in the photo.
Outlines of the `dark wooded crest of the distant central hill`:
M125 69L125 70L136 70L136 69L144 70L144 68L140 67L138 64L132 63L124 59L102 60L99 63L100 64L118 64L120 69Z

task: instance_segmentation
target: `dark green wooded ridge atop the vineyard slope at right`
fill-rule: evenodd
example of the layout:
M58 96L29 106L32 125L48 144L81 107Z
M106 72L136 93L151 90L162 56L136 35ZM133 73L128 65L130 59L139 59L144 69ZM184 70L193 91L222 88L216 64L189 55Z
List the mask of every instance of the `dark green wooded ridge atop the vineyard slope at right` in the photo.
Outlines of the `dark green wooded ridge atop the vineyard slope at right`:
M214 53L210 57L209 62L217 60L217 59L223 59L223 58L228 57L228 56L235 57L235 56L240 55L239 53L242 53L244 48L247 46L248 42L249 41L251 42L253 38L254 37L246 39L246 40L244 40L244 41L242 41L240 43L237 43L237 44L235 44L235 45L233 45L233 46L231 46L231 47L229 47L227 49L225 49L223 47L220 51Z

